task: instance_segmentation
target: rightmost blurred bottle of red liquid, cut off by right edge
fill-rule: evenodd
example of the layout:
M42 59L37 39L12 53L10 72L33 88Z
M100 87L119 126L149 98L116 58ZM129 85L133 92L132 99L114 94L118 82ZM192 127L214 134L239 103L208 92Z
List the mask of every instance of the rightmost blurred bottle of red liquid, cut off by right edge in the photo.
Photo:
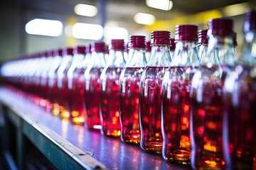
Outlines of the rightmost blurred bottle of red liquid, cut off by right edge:
M223 87L227 169L256 169L256 11L245 13L240 62Z

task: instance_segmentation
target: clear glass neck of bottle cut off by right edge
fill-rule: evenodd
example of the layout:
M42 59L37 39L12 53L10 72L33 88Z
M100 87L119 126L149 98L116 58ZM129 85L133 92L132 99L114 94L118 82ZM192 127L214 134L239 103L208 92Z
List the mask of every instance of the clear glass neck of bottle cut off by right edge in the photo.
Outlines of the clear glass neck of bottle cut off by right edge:
M240 64L256 66L256 30L245 33Z

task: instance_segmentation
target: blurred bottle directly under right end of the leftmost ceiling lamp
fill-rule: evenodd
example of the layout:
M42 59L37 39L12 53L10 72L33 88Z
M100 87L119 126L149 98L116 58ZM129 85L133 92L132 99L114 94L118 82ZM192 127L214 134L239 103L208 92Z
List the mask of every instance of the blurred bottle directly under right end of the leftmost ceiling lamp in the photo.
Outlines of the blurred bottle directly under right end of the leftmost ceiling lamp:
M57 103L57 71L62 61L62 49L56 49L53 52L53 64L48 72L48 98L49 102L46 110L50 111L53 115L58 115L59 105ZM57 111L57 112L55 112Z

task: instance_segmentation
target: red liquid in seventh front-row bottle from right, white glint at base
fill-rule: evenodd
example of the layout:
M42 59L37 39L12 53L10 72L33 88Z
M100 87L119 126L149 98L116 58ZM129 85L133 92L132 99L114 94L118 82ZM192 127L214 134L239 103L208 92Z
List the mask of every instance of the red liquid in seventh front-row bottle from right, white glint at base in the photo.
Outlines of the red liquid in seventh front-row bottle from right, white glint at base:
M87 113L87 128L100 130L100 74L102 68L90 69L85 77L85 108Z

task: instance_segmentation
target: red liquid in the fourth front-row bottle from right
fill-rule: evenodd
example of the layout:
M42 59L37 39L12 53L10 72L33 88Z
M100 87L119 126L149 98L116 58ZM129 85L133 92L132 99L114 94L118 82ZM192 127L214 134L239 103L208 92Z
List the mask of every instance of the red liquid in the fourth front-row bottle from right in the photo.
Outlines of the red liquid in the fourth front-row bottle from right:
M140 145L146 152L161 154L161 83L166 69L146 67L140 82Z

